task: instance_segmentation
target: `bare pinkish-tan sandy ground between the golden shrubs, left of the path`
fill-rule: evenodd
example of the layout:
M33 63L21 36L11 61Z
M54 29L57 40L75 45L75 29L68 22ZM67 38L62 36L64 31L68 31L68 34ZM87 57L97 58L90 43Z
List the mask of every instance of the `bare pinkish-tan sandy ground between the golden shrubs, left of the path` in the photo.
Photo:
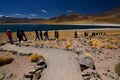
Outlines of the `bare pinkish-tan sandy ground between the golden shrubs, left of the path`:
M5 55L7 52L0 52L0 55ZM16 77L21 78L26 72L33 69L35 63L29 61L27 56L13 55L14 60L10 64L0 66L0 71L4 73L13 73Z

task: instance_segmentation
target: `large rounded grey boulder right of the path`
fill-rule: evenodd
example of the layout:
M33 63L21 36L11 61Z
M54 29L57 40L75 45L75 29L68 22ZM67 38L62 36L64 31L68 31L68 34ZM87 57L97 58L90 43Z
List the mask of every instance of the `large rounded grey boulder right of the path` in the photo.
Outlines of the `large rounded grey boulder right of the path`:
M84 56L84 57L79 58L78 61L79 61L79 64L80 64L82 71L84 71L87 68L91 68L93 70L96 69L96 67L94 65L94 61L91 57Z

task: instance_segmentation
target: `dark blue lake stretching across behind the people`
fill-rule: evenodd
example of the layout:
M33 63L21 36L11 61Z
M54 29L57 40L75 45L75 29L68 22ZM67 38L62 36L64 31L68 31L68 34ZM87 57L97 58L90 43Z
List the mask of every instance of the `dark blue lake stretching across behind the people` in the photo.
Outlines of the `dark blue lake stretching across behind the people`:
M73 30L73 29L99 29L99 28L120 28L120 26L97 26L97 25L42 25L42 24L18 24L18 25L0 25L0 32L6 32L10 29L16 32L18 29L24 31L38 30Z

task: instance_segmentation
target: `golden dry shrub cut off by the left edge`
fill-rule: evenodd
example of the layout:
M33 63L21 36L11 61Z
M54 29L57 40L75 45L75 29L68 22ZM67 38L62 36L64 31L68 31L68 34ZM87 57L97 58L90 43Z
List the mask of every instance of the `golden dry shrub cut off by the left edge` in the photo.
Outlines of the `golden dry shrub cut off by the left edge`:
M6 56L0 56L0 65L9 64L13 60L13 55L11 53L8 53Z

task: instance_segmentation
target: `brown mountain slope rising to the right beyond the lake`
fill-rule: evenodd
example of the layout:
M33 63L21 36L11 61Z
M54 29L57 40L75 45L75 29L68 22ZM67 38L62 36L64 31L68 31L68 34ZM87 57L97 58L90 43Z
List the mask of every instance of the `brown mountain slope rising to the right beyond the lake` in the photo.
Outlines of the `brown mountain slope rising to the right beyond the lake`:
M78 13L63 14L41 23L119 23L120 24L120 7L114 8L102 14L81 15Z

